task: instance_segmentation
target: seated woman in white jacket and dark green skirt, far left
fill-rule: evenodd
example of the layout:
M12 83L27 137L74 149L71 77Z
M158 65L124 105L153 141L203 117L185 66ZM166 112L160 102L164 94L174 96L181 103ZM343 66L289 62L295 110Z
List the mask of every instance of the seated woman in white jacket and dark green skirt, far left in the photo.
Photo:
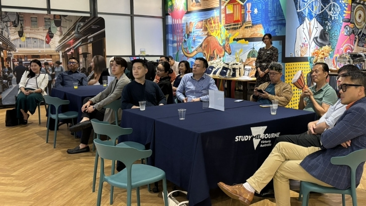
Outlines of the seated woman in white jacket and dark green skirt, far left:
M17 118L21 124L27 124L29 114L34 114L37 105L47 95L45 88L48 84L48 75L41 72L42 63L34 59L30 61L29 71L24 72L19 83L19 92L15 107Z

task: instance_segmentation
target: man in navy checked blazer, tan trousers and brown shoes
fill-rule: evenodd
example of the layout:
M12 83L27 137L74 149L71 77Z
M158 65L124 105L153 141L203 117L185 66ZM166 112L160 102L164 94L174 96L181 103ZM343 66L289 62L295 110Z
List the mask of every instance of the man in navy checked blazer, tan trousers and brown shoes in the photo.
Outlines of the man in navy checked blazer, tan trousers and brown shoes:
M354 71L342 74L342 77L339 93L341 103L347 105L346 111L332 129L326 129L322 133L322 147L302 147L280 142L244 184L230 186L219 182L219 187L226 195L238 199L242 204L250 205L254 192L260 193L273 178L276 204L289 206L289 179L338 189L351 186L350 168L333 165L331 158L366 148L366 74ZM349 147L341 146L349 141ZM360 183L364 164L365 162L357 167L356 185Z

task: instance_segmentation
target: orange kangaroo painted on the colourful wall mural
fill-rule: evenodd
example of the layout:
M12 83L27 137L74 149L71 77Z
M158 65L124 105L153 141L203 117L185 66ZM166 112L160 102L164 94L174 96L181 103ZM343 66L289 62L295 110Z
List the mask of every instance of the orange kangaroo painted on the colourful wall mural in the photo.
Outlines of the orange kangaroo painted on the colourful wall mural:
M225 52L231 55L231 48L229 45L229 37L226 37L225 44L221 45L220 42L214 36L207 36L202 43L191 53L184 51L182 44L182 52L184 56L192 58L198 53L203 53L203 56L207 61L218 59L218 57L223 57Z

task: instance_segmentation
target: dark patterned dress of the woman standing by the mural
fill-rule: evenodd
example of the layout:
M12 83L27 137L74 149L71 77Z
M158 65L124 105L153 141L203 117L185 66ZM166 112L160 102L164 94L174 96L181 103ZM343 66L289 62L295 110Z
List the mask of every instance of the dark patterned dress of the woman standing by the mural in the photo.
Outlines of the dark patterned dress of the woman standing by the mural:
M260 68L261 71L265 71L268 66L271 64L272 61L277 62L279 60L279 50L276 47L270 47L269 49L266 49L265 47L262 47L258 51L257 59L255 60L255 69ZM269 79L269 74L265 74L263 77L260 77L258 74L258 71L255 71L255 87L258 87L259 85L271 81Z

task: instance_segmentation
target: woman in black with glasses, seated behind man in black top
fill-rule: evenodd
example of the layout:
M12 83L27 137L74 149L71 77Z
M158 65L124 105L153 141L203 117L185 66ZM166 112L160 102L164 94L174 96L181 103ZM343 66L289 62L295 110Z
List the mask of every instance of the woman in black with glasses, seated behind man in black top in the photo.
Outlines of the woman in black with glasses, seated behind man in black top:
M173 87L171 86L170 77L168 76L171 73L173 73L173 70L170 68L170 64L166 61L160 62L158 67L156 67L156 75L160 77L158 86L163 91L164 95L169 94L167 98L167 104L174 103Z

